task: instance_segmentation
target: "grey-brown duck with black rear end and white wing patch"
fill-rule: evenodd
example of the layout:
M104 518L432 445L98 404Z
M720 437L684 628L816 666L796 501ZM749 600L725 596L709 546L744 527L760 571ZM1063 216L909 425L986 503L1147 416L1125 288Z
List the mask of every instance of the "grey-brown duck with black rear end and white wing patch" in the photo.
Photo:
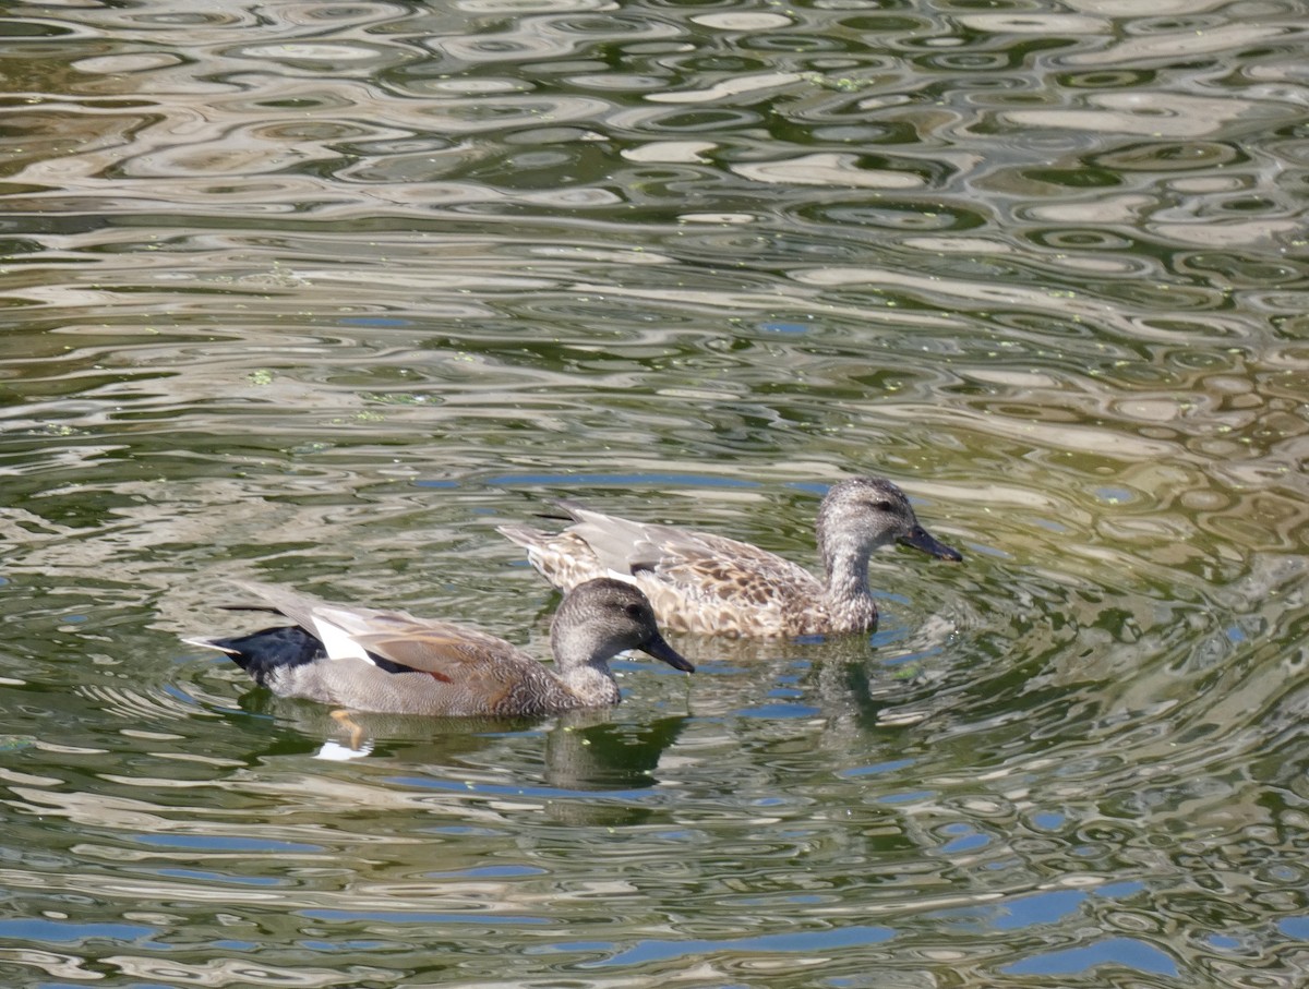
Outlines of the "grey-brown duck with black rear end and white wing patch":
M649 600L630 582L580 581L550 625L555 672L517 646L465 625L332 604L254 581L233 581L293 624L185 641L226 654L280 697L355 712L436 717L547 716L619 703L609 661L639 649L674 670L695 667L660 633ZM335 714L334 714L335 717Z

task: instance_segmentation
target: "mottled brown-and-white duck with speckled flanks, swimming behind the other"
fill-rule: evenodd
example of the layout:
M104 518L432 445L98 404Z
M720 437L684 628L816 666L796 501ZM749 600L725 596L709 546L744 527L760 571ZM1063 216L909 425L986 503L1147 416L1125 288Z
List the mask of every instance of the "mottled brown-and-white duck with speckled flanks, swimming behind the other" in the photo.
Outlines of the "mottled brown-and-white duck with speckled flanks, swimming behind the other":
M596 577L640 587L660 625L728 637L802 637L869 632L877 603L868 590L868 561L890 543L941 560L963 555L919 523L905 492L885 477L833 484L818 506L816 532L823 577L775 553L726 536L634 522L583 508L558 506L572 522L545 532L499 526L528 551L528 561L568 591Z

